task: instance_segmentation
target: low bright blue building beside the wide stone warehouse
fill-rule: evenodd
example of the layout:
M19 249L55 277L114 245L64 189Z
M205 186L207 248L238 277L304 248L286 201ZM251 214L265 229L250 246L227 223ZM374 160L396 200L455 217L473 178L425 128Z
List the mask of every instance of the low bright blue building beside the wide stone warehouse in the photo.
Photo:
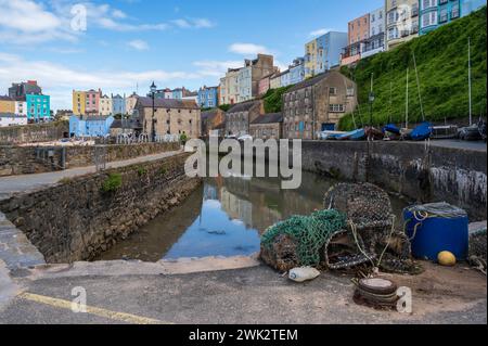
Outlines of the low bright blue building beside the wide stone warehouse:
M111 126L115 121L113 116L69 117L70 137L106 137L111 132Z

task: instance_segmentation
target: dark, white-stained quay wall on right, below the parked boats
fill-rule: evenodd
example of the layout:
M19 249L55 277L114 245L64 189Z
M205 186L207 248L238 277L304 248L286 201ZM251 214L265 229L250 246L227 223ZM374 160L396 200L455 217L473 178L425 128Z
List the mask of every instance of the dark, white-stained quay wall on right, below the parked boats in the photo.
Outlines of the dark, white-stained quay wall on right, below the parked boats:
M486 151L414 142L304 141L305 170L369 181L420 203L448 202L487 218Z

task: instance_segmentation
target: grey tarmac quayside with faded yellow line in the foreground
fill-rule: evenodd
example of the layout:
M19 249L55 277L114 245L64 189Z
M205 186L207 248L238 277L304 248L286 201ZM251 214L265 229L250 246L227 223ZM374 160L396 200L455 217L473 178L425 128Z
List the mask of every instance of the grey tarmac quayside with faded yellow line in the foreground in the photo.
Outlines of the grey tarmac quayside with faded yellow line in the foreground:
M412 286L412 315L357 306L350 277L341 274L296 284L265 266L170 275L66 271L65 277L16 279L28 293L0 309L0 323L486 324L486 277L464 267L439 268L426 264L420 277L395 279ZM72 312L76 286L86 289L94 310Z

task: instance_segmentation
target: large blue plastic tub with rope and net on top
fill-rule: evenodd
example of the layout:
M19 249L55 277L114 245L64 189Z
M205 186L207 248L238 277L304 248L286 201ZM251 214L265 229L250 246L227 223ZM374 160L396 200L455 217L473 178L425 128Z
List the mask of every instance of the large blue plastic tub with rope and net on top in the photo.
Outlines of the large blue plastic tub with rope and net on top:
M470 221L463 209L447 203L416 205L406 208L403 218L414 257L437 260L448 251L459 260L467 258Z

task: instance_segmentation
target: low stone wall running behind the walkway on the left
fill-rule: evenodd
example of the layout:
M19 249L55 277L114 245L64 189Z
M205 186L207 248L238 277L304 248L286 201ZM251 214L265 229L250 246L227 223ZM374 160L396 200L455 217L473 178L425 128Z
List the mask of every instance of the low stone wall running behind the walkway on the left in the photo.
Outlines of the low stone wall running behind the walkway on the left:
M54 146L44 148L44 152L38 154L38 146L0 146L0 177L30 175L54 171L76 167L94 165L94 156L102 155L105 162L116 162L139 156L177 151L179 143L139 143L139 144L113 144L94 146ZM52 156L40 159L51 151Z

